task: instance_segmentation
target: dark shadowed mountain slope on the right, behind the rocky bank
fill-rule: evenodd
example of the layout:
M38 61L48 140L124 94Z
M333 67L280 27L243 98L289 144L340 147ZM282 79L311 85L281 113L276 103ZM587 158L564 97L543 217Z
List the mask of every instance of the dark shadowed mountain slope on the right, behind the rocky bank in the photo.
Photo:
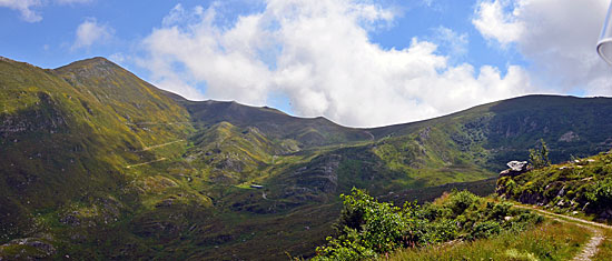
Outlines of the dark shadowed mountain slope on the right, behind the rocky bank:
M478 106L450 116L368 130L376 138L404 137L437 128L453 147L486 159L500 171L505 162L526 159L544 139L554 162L612 148L612 99L526 96Z

